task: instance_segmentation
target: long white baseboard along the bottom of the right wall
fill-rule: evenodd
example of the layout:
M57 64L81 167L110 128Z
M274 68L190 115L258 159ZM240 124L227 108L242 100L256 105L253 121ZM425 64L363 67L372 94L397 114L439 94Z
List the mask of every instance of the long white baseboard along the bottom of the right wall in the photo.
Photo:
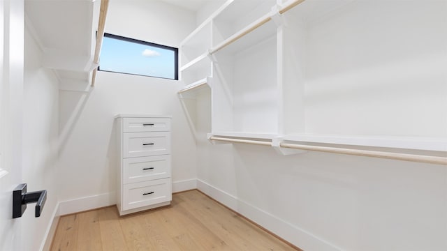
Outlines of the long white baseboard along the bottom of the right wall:
M300 227L291 225L277 216L199 179L197 180L197 189L302 250L342 250L342 248L338 248Z

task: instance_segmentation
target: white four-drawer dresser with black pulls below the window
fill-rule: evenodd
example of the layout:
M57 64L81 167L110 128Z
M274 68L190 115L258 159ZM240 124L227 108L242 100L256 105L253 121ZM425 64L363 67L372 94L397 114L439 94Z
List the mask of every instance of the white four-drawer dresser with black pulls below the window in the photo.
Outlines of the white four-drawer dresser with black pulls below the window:
M172 200L170 116L117 115L119 215Z

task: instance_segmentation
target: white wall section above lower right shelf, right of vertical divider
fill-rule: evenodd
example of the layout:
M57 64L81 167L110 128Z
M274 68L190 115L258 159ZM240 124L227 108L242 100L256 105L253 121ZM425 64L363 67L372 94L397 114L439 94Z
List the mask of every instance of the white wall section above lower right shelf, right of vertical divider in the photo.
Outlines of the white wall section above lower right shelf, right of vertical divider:
M446 1L354 1L309 22L306 132L447 137L446 11Z

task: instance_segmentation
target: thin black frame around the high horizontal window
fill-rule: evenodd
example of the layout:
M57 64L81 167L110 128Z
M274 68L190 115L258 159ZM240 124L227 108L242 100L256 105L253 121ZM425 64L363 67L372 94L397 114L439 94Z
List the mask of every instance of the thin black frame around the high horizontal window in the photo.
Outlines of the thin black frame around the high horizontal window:
M122 73L122 74L127 74L127 75L136 75L136 76L144 76L144 77L156 77L156 78L161 78L161 79L171 79L171 80L179 80L179 49L176 47L170 47L168 45L159 45L156 43L151 43L151 42L147 42L147 41L143 41L143 40L138 40L135 38L126 38L124 36L118 36L115 34L111 34L111 33L104 33L104 38L112 38L112 39L117 39L117 40L122 40L125 42L129 42L129 43L137 43L140 45L148 45L151 47L157 47L157 48L161 48L164 50L171 50L174 52L174 78L169 78L169 77L156 77L156 76L151 76L151 75L142 75L142 74L135 74L135 73L122 73L122 72L118 72L118 71L113 71L113 70L101 70L101 55L99 57L99 64L98 64L98 70L99 71L103 71L105 73Z

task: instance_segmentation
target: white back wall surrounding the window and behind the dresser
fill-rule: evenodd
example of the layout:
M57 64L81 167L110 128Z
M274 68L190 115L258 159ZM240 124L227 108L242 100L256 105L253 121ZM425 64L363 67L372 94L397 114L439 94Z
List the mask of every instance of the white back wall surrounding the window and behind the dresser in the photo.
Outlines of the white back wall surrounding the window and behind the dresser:
M174 47L195 26L193 13L156 1L110 1L107 18L105 32ZM172 115L173 189L196 178L196 146L177 98L181 87L176 80L98 72L90 93L60 91L61 213L116 203L116 114Z

